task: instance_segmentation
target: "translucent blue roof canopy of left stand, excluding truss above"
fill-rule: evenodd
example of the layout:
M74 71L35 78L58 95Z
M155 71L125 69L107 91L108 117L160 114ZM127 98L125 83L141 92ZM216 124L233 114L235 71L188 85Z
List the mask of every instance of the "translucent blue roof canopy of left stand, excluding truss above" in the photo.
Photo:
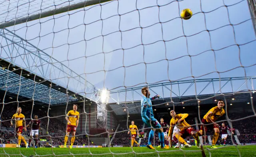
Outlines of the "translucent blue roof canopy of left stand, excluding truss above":
M9 65L8 62L0 60L1 66L8 67L6 64ZM33 98L38 103L51 105L63 104L67 101L78 102L84 98L18 66L9 66L10 68L13 71L6 68L0 69L0 89L7 91L9 96L13 96L9 94L12 93L29 99Z

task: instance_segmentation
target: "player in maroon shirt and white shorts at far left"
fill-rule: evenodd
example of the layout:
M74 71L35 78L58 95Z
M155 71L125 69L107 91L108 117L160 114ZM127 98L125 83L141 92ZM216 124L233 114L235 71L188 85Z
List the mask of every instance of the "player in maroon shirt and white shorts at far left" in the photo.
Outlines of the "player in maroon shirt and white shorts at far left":
M29 124L27 125L27 127L30 126L30 129L31 129L31 131L30 131L30 139L28 141L29 146L30 146L30 143L31 143L31 140L32 140L33 136L35 135L36 138L34 140L36 141L36 148L38 147L37 140L38 140L38 134L39 134L39 130L40 130L40 123L41 123L41 121L38 120L38 116L35 115L35 119L31 120L29 122Z

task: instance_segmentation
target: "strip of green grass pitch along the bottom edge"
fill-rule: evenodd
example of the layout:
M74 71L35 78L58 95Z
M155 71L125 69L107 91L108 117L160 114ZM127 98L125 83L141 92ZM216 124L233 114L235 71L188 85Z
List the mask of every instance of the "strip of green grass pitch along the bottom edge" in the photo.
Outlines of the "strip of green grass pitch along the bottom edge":
M113 157L112 153L114 153L114 157L158 157L158 154L159 157L202 157L201 149L195 146L188 149L183 148L182 150L178 148L156 148L156 150L146 147L134 147L133 151L136 152L134 153L130 147L90 148L90 151L88 148L73 148L70 150L68 148L20 148L20 150L18 148L1 148L0 157L21 157L22 155L29 157L31 155L36 156L36 154L47 155L47 157L56 157L55 155L60 157L92 157L90 153L93 154L93 157ZM204 146L204 151L206 157L210 155L211 157L239 157L240 155L242 157L256 157L256 146L254 145L226 146L218 149L210 149L209 146ZM70 153L73 155L70 155Z

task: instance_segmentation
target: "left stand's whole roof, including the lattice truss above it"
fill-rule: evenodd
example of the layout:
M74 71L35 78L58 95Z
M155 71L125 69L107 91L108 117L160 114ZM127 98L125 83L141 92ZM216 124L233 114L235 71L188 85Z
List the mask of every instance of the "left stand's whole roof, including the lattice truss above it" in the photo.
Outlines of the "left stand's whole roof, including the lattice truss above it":
M44 105L97 101L98 88L43 50L7 29L0 40L0 90Z

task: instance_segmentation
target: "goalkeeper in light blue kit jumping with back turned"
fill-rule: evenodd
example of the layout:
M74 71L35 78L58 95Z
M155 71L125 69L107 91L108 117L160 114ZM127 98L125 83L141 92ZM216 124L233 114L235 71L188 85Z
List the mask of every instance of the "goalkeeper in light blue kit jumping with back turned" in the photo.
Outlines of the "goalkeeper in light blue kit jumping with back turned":
M148 125L148 127L151 127L151 131L148 135L148 144L147 147L149 149L155 149L151 142L154 137L154 129L158 130L158 135L161 143L161 148L163 149L168 149L169 147L164 146L164 132L163 128L161 127L160 123L154 118L153 110L152 110L152 99L159 98L159 95L156 95L154 97L149 98L150 92L148 90L148 87L143 87L141 89L141 92L143 94L142 99L141 99L141 117L142 121ZM154 129L153 129L153 128Z

